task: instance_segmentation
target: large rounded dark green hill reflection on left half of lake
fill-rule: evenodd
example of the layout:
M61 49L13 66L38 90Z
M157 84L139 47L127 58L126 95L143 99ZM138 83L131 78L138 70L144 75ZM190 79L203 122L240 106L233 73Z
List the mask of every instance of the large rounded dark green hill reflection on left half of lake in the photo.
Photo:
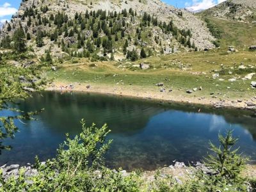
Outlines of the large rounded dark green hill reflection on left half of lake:
M164 111L163 108L151 108L134 100L108 97L106 95L91 95L84 93L54 93L45 92L34 95L33 99L20 104L25 111L44 108L40 119L47 124L45 127L57 132L77 134L84 118L87 125L93 122L97 126L108 124L112 133L132 134L143 129L150 116Z

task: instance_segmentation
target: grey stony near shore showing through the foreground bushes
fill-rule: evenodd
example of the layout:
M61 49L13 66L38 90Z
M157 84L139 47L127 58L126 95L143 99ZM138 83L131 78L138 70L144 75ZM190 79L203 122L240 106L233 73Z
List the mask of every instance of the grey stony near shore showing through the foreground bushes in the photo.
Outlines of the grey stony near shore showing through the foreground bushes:
M42 164L45 164L45 162L42 162ZM27 179L26 182L33 182L32 180L29 180L29 177L33 177L38 174L38 170L36 170L33 164L30 163L27 163L26 166L20 166L19 164L10 164L9 166L7 166L6 164L4 164L3 166L0 167L4 179L8 179L10 177L18 179L21 169L24 170L25 179ZM177 184L183 184L184 182L186 182L186 180L193 177L193 175L195 175L195 172L198 170L202 171L202 173L207 175L215 174L215 172L211 170L211 168L208 168L207 166L205 166L205 164L199 161L191 162L189 166L183 162L173 161L173 164L170 166L159 168L153 171L143 171L142 179L145 183L152 182L155 179L156 173L159 173L161 177L167 177L167 175L171 175L175 179ZM116 170L112 171L116 172ZM99 170L96 170L93 173L95 173L97 177L101 177L101 172ZM127 177L130 174L130 172L127 172L126 170L122 170L120 173L122 173L124 177ZM244 177L255 178L256 165L247 164L242 175Z

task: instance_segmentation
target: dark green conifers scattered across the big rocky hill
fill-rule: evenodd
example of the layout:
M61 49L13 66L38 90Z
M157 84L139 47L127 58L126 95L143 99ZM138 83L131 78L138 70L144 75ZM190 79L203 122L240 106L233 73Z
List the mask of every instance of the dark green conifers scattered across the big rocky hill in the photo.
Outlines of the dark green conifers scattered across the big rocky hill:
M24 1L23 1L24 2ZM22 20L26 21L24 29L15 29L8 23L8 31L15 29L20 34L22 42L24 40L35 40L37 47L44 46L44 39L49 38L52 42L56 42L62 51L67 52L70 56L90 57L95 56L99 52L104 57L108 54L114 55L116 49L120 48L120 44L124 56L130 60L137 60L138 58L146 58L151 56L155 49L149 50L146 54L143 42L151 42L154 39L159 47L162 47L163 42L159 36L153 36L152 27L158 27L165 35L174 36L180 44L185 47L196 49L195 43L191 43L191 31L185 29L178 29L171 20L170 22L162 22L148 13L137 15L137 12L130 8L122 12L106 12L104 10L88 11L85 13L78 13L73 18L68 17L65 12L47 13L49 8L41 6L39 10L33 6L26 8ZM136 26L136 22L140 21L140 26L136 29L136 34L129 33L131 29ZM23 22L24 23L24 22ZM31 27L37 27L37 31L28 31ZM47 26L48 28L45 28ZM133 28L132 28L133 27ZM23 33L21 33L21 29ZM17 33L18 33L17 32ZM30 32L30 33L29 33ZM132 35L132 36L131 36ZM13 37L6 35L1 41L1 47L11 48L11 42L17 41L15 35ZM140 47L140 56L136 54L136 49L127 51L127 47L133 44ZM15 42L14 42L15 44ZM24 46L26 44L24 43ZM77 51L83 48L84 51ZM22 51L22 50L20 50ZM163 53L163 51L161 51ZM111 57L113 59L113 57Z

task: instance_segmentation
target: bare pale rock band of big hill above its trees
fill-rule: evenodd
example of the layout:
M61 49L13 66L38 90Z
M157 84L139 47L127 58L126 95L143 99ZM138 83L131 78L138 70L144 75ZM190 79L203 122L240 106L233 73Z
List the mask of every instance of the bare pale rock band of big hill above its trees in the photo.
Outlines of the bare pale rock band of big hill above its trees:
M164 4L160 0L28 0L21 4L19 11L15 17L19 18L19 15L24 13L27 7L32 6L45 6L49 8L49 12L65 12L70 17L74 17L76 12L84 13L86 10L107 10L120 12L121 10L132 8L136 10L138 14L143 12L150 13L157 16L159 20L170 21L173 20L175 26L179 29L191 29L193 37L191 40L195 41L195 44L200 49L212 48L214 45L214 37L207 29L206 25L193 13L186 10L179 10L173 6ZM91 3L92 2L92 3ZM182 11L182 17L178 13Z

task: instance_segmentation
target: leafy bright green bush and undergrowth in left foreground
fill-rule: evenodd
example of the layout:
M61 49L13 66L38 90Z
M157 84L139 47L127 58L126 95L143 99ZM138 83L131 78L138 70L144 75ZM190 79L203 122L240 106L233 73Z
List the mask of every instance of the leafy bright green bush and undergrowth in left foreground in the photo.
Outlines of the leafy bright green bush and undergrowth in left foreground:
M136 173L123 177L122 170L113 172L104 166L103 155L110 141L106 141L107 126L86 127L79 136L60 145L56 159L40 163L36 157L38 174L26 177L20 170L18 179L3 178L0 191L139 191Z

